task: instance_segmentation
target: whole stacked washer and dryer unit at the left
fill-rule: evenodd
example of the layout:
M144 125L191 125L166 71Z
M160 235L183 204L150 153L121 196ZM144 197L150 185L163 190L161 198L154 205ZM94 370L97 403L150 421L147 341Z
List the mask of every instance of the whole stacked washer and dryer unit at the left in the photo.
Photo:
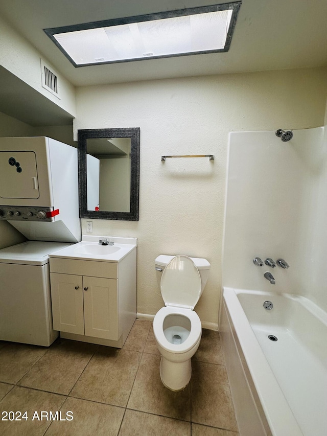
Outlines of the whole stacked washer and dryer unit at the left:
M0 220L28 239L0 250L0 340L50 346L49 254L81 240L77 149L0 138Z

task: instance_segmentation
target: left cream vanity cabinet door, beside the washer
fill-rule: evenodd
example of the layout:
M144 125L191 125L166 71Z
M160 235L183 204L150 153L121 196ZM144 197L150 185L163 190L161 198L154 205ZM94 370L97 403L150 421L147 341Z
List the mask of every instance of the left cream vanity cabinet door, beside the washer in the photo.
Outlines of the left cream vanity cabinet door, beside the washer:
M51 272L50 278L53 328L84 335L82 277Z

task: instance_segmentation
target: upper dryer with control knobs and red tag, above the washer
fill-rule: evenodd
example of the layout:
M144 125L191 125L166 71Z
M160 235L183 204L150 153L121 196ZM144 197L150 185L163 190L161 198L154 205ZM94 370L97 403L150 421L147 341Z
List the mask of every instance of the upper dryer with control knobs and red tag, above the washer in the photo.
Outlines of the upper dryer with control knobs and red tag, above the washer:
M33 241L79 242L77 149L43 136L0 138L0 220Z

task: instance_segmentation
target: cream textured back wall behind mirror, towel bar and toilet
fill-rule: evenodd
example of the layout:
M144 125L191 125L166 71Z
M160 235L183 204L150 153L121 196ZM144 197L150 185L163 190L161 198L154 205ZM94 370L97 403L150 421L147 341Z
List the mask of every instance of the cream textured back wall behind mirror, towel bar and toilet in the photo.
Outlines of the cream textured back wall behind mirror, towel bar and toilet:
M228 133L321 126L326 94L323 68L77 88L75 139L78 129L141 128L139 221L93 223L95 235L138 238L138 313L162 306L157 255L204 257L212 267L196 311L205 326L217 327ZM162 163L165 154L215 160Z

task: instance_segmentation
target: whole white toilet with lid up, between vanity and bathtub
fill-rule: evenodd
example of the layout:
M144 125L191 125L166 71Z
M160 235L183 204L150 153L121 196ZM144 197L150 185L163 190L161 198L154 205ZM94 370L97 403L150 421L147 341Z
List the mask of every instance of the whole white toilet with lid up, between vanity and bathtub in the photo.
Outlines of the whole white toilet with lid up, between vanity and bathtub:
M190 381L191 357L201 340L201 321L193 310L205 287L210 264L188 256L158 256L157 281L165 307L153 320L153 332L161 353L160 377L172 391Z

